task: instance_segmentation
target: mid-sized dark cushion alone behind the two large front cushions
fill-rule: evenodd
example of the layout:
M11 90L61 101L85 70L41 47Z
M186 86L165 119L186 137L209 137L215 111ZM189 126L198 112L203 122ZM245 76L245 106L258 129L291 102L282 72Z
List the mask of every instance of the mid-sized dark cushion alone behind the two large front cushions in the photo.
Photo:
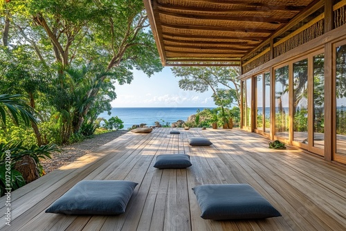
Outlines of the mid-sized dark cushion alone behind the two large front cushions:
M157 155L154 167L158 169L184 169L190 167L190 156L185 154Z

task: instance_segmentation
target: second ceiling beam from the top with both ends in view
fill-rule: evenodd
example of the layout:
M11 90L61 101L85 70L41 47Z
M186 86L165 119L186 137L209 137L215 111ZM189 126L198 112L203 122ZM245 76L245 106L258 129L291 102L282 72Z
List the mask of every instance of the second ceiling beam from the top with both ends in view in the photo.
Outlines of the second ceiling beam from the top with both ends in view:
M229 32L240 32L240 33L264 33L271 34L275 30L264 30L264 29L246 29L244 28L231 28L226 26L197 26L197 25L173 25L163 24L167 28L180 29L180 30L207 30L207 31L229 31Z

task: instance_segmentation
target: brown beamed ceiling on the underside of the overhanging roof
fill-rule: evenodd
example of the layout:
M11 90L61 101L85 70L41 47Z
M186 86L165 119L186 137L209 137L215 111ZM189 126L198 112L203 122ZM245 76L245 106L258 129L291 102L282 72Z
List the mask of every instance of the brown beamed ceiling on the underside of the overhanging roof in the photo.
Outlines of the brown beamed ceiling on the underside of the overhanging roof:
M163 66L239 66L313 0L143 0Z

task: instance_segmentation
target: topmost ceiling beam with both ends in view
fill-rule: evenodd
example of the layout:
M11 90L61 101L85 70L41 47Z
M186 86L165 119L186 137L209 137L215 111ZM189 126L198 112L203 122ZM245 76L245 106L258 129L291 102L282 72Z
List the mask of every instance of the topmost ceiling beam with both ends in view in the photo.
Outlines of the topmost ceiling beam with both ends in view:
M226 16L226 15L196 15L196 13L182 14L182 13L174 13L166 10L158 10L160 15L168 15L172 17L179 17L180 19L198 19L198 20L224 20L224 21L247 21L253 23L268 23L268 24L286 24L289 22L287 19L279 19L273 17L237 17L237 16ZM256 21L255 19L259 19L260 21Z

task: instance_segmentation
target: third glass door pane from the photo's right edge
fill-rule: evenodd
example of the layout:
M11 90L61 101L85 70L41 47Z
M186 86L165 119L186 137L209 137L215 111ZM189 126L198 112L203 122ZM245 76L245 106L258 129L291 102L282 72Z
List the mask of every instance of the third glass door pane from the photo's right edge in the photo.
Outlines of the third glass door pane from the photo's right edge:
M293 141L308 139L308 59L293 63Z

